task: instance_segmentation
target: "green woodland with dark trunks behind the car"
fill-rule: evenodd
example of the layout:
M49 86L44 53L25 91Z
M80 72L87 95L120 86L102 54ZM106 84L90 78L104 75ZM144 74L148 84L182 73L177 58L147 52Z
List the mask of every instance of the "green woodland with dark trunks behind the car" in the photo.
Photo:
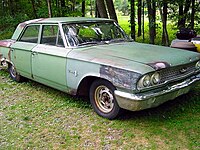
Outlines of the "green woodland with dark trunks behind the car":
M181 28L200 33L200 0L0 0L0 39L18 23L46 17L115 19L135 41L169 46Z

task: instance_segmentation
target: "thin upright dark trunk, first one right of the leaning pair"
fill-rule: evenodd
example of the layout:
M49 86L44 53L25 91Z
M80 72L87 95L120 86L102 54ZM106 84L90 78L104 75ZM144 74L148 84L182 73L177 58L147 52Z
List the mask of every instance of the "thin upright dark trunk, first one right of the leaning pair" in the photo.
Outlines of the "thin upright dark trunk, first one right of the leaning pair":
M131 37L135 40L135 0L131 0Z

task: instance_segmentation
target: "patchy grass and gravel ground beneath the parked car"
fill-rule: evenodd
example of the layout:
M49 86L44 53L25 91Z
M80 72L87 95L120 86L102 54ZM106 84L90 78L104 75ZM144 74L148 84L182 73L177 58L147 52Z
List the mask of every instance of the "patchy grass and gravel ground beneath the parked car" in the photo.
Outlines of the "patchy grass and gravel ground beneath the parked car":
M200 149L199 90L110 121L88 100L0 70L0 149Z

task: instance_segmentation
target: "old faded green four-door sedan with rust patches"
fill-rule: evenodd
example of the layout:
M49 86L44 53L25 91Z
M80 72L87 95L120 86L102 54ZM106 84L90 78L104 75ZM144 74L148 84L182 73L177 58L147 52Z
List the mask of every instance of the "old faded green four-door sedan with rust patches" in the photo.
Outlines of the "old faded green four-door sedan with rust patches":
M108 119L156 107L200 81L199 53L134 42L112 19L29 20L0 41L0 53L13 80L88 96Z

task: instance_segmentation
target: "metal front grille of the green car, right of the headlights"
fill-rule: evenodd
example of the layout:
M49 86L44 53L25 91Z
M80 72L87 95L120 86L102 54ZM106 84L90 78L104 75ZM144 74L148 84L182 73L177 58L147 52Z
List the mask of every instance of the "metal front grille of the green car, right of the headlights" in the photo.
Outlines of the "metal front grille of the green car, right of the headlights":
M163 69L160 71L161 83L182 79L193 74L195 72L195 64L196 62L193 62L182 66Z

